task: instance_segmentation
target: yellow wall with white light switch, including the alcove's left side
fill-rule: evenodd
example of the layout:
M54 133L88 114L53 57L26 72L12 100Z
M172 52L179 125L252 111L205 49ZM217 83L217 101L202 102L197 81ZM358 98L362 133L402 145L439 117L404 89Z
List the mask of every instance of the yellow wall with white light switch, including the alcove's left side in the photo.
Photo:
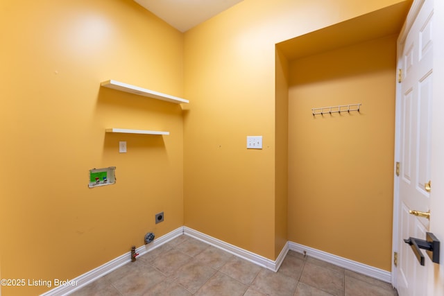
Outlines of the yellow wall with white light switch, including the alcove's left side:
M244 0L185 33L185 96L192 98L184 121L185 225L276 258L287 181L275 44L401 2ZM247 150L248 135L262 135L264 148Z

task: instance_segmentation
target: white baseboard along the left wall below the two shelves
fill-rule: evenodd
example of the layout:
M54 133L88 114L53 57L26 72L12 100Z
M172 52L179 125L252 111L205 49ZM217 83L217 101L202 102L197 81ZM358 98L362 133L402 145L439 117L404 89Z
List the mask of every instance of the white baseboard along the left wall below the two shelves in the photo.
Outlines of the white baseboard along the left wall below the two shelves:
M136 252L139 253L139 255L143 255L151 250L154 250L156 247L160 247L164 243L171 241L173 238L176 238L181 234L183 234L183 227L179 227L178 229L169 232L169 234L165 234L160 238L156 238L152 243L149 243L148 245L142 245L142 247L137 247ZM121 256L118 256L117 258L112 259L111 261L99 266L98 268L94 268L93 270L90 270L89 272L86 272L83 275L76 277L75 279L71 279L70 283L76 283L75 285L58 286L57 288L53 288L52 290L49 290L48 292L42 294L41 296L69 295L69 293L73 293L75 290L83 288L87 284L92 283L96 279L99 279L104 275L107 275L113 270L116 270L117 268L129 262L131 262L131 252L127 252Z

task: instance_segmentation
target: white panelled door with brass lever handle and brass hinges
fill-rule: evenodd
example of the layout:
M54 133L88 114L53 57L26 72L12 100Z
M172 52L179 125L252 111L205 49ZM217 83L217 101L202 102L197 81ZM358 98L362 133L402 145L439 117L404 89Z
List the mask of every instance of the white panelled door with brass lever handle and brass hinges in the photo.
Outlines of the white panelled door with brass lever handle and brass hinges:
M432 143L433 1L425 0L400 50L402 82L400 105L400 178L398 204L399 249L396 283L400 296L427 295L427 268L420 265L404 238L425 239L429 220L409 210L430 210L429 192ZM424 253L425 254L425 253ZM426 256L426 265L433 264Z

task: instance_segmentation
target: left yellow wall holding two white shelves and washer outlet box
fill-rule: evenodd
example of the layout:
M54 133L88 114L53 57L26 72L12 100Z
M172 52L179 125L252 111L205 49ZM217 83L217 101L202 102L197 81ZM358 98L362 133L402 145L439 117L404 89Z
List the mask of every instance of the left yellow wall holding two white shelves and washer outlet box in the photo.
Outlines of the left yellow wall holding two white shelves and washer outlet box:
M182 96L182 33L130 0L1 1L0 13L1 276L72 279L182 226L180 105L100 87ZM117 184L88 189L89 169L106 166Z

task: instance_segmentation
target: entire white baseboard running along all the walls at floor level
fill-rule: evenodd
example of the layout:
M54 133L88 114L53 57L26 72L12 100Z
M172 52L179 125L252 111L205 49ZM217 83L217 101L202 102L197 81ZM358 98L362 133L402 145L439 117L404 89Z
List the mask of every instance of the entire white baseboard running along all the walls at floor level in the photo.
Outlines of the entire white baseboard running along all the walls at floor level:
M387 283L391 283L391 272L381 270L379 268L374 268L369 265L365 265L363 263L359 263L356 261L352 261L349 259L342 258L340 256L336 256L333 254L329 254L327 252L323 252L320 250L313 249L311 247L307 247L305 245L300 245L298 243L287 242L282 251L280 252L278 258L273 261L271 259L265 258L264 256L260 256L253 252L241 249L240 247L236 247L235 245L231 245L230 243L225 243L217 238L212 236L208 236L207 234L203 234L189 227L179 227L178 229L161 236L160 238L156 238L153 243L149 243L148 245L142 245L141 247L137 247L136 252L139 255L146 254L151 250L154 250L157 247L160 247L164 243L171 241L173 238L176 238L182 234L187 236L191 236L200 241L208 243L209 245L213 245L214 247L218 247L225 252L229 252L235 256L238 256L242 259L255 263L259 266L267 268L268 270L272 270L274 272L278 271L282 261L284 261L285 256L289 250L303 253L307 252L309 256L312 256L316 259L320 259L323 261L327 261L334 265L341 266L342 268L346 268L348 270L352 270L354 272L361 273L363 275L367 275L368 277L373 277L375 279L379 279L381 281L386 281ZM73 293L75 290L83 288L87 284L92 283L96 279L107 275L108 273L116 270L117 268L129 263L131 261L130 258L131 252L127 252L121 256L118 256L115 259L99 266L98 268L94 268L94 270L90 270L79 277L71 280L71 283L76 283L73 286L58 286L57 288L53 288L48 292L42 294L41 296L65 296Z

